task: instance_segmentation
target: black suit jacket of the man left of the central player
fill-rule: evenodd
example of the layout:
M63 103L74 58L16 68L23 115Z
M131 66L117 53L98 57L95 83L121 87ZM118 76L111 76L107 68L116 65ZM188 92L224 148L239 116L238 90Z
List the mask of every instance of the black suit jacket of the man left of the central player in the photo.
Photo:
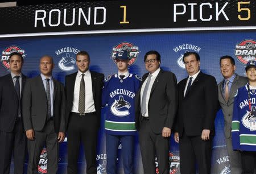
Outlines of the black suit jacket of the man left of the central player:
M69 119L69 113L72 111L72 106L73 106L76 75L77 75L77 72L73 74L69 74L68 76L65 77L65 93L67 96L67 99L66 99L67 107L65 110L65 117L66 117L67 124ZM90 76L92 77L94 107L95 107L96 115L98 118L98 122L96 126L100 127L101 93L102 93L102 87L104 85L104 74L90 71Z

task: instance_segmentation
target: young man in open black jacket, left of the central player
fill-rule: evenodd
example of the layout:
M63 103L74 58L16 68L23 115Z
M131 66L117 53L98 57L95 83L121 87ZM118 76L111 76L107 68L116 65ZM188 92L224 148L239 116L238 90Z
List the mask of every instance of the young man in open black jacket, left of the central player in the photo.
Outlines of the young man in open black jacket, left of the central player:
M86 173L97 173L96 148L101 117L101 92L104 74L89 71L86 51L76 55L78 72L65 77L68 121L68 174L77 174L80 142L84 145Z

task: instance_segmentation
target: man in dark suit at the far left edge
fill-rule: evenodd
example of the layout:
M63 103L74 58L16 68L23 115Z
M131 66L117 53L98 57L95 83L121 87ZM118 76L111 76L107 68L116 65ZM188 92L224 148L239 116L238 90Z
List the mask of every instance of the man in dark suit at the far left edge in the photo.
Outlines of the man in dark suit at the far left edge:
M14 173L23 173L26 155L26 135L22 123L22 94L26 76L22 74L23 57L10 55L11 72L0 77L0 173L9 174L11 155Z

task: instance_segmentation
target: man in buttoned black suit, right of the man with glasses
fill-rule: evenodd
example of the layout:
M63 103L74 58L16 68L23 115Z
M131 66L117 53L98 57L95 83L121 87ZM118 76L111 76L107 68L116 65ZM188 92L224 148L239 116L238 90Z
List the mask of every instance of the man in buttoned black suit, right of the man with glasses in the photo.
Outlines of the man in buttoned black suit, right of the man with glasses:
M187 52L183 56L188 77L178 84L179 109L177 132L180 144L180 172L210 173L214 119L218 109L218 87L213 76L200 71L200 56Z

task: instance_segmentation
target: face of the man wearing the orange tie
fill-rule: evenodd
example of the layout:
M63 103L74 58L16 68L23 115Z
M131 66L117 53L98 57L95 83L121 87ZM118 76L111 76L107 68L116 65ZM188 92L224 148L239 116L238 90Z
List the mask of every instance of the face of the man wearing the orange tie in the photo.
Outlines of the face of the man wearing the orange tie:
M236 70L236 65L233 65L230 59L222 59L220 62L220 69L222 76L226 79L233 76Z

